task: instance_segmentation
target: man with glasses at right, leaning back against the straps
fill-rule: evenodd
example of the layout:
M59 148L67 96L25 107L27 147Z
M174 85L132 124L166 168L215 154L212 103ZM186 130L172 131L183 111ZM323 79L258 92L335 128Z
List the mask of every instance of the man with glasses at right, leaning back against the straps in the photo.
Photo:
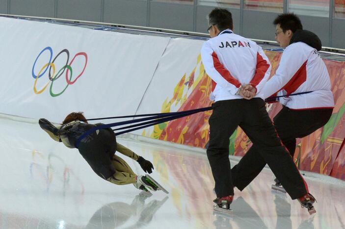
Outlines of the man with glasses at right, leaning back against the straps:
M264 97L286 95L279 100L283 109L274 117L274 126L283 144L293 158L296 138L306 137L324 126L332 115L333 93L327 68L318 51L321 41L308 30L302 30L294 14L281 14L274 20L275 39L286 47L276 73L264 87ZM292 95L300 93L298 95ZM269 100L269 98L268 98ZM233 182L242 190L265 167L265 160L257 157L252 148L231 170ZM255 161L255 163L253 163ZM250 173L243 168L251 166ZM240 179L237 179L239 174ZM280 180L275 180L280 186Z

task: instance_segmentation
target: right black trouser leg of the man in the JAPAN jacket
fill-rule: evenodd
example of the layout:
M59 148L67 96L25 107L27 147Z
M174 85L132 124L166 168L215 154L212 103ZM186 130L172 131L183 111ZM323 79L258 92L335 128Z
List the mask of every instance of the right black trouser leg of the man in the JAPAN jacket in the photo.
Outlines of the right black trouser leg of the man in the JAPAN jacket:
M300 175L292 157L282 145L276 130L265 109L262 99L252 99L248 103L252 109L251 115L245 116L241 128L257 144L258 152L265 159L276 178L282 183L292 199L307 194L308 187ZM248 109L248 108L247 108ZM248 168L250 169L250 168Z

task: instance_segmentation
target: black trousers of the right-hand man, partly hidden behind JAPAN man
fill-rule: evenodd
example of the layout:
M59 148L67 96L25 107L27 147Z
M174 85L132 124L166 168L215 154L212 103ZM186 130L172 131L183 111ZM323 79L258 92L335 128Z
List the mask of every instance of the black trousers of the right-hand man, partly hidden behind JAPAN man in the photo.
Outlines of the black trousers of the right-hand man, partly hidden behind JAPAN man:
M292 158L296 147L296 138L306 137L324 126L331 117L332 111L333 109L291 110L288 107L283 107L273 118L277 133ZM239 163L231 169L234 186L243 190L265 165L265 158L259 155L255 147L251 147ZM247 170L248 166L251 168L250 171ZM269 167L271 166L269 165ZM281 182L280 178L278 180ZM286 189L286 184L282 184Z

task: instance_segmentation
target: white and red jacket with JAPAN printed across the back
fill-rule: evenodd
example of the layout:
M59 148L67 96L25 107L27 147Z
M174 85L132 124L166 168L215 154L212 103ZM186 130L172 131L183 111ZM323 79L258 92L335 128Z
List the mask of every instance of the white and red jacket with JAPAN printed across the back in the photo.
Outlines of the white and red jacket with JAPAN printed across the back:
M257 89L255 97L264 99L262 88L271 65L263 49L255 42L226 29L204 43L201 58L206 73L212 79L211 100L242 98L235 93L240 85L245 84L253 85Z

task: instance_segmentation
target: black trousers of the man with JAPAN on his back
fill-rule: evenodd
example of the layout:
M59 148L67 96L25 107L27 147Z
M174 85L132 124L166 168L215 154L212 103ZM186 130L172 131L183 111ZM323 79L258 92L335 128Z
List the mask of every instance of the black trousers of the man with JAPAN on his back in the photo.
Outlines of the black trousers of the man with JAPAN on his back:
M282 145L269 118L265 102L261 98L233 99L218 101L213 104L213 113L209 119L210 143L207 156L215 181L217 197L234 194L234 185L229 160L229 137L238 126L253 142L255 149L246 167L239 166L235 182L247 179L257 173L257 161L269 165L274 175L283 184L286 191L296 199L307 194L307 186L296 168L292 157ZM257 160L256 160L257 159ZM245 171L242 177L241 172ZM235 184L237 186L237 183Z

